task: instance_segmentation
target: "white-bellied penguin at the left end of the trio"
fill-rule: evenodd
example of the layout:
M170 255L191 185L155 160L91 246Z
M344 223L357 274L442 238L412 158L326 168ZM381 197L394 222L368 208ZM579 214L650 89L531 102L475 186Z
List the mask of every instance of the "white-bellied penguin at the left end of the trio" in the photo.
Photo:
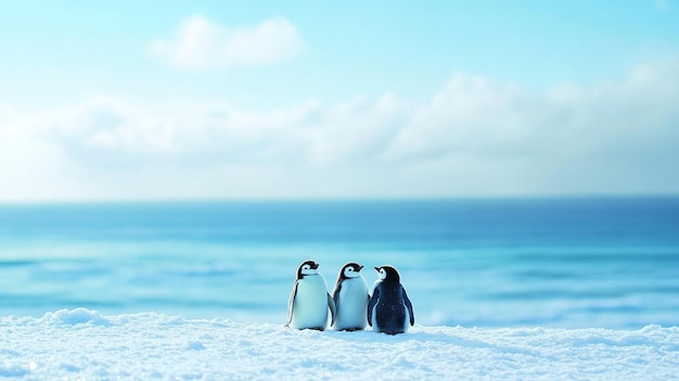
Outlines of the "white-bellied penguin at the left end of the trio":
M297 278L287 302L287 327L295 329L328 328L328 309L331 325L335 322L335 303L328 293L325 278L318 272L313 261L306 261L297 268Z

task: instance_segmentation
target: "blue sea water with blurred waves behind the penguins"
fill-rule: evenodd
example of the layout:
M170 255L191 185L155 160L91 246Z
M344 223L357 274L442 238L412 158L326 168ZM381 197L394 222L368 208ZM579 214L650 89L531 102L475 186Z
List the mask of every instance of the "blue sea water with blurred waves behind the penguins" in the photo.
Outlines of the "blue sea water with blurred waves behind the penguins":
M307 258L396 266L423 325L679 323L679 198L0 205L0 316L284 323Z

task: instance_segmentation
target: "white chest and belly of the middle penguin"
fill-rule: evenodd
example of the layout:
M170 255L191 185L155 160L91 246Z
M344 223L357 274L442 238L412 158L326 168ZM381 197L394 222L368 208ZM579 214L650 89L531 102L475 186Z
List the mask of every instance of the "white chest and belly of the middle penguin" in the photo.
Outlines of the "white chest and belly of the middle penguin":
M345 279L335 296L338 300L334 329L364 329L368 325L368 284L363 277Z

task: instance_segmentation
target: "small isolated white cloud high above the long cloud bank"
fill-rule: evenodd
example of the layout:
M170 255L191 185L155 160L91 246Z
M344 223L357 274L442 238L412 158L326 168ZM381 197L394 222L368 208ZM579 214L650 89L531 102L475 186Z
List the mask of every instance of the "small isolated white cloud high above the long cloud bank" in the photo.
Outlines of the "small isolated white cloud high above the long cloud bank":
M149 51L172 66L200 71L277 63L303 47L297 29L283 17L228 28L196 15L183 21L171 38L152 41Z

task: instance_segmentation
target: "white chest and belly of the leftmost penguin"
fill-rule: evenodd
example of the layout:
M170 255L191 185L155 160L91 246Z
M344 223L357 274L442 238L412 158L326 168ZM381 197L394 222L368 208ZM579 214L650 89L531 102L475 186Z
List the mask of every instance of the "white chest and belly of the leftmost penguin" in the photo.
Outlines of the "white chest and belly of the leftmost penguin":
M297 282L291 326L295 329L328 325L328 288L321 275L306 276Z

